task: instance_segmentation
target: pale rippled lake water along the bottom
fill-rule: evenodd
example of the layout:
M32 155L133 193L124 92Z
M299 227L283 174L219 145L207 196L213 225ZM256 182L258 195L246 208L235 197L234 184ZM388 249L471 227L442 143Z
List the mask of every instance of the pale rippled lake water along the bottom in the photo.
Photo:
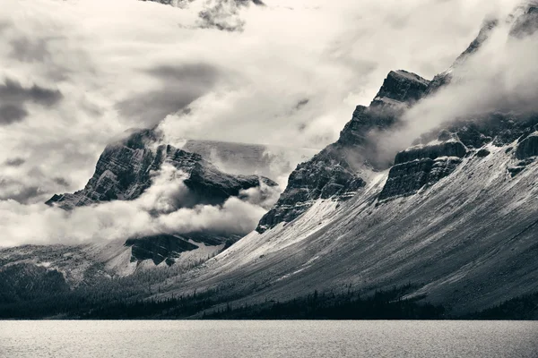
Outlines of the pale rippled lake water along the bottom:
M0 321L0 357L538 357L538 322Z

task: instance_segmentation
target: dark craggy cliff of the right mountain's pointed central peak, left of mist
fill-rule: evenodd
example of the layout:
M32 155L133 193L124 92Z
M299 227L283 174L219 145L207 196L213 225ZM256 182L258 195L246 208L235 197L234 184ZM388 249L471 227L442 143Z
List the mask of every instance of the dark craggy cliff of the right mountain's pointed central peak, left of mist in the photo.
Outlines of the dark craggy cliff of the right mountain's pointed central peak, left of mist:
M429 81L405 71L389 72L369 107L358 106L340 138L291 173L288 185L260 220L256 231L263 233L282 222L290 222L308 210L315 200L347 200L365 185L363 175L385 169L377 160L377 143L371 132L383 132L396 123L402 111L419 100Z

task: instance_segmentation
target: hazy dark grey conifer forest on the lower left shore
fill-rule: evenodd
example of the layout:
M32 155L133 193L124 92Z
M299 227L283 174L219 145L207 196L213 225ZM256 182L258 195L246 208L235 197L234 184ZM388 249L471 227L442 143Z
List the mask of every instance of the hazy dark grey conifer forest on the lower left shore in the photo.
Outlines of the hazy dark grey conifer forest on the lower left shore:
M5 267L0 270L0 319L80 318L99 307L130 305L158 294L182 272L154 268L127 277L87 277L71 287L56 270L32 264Z

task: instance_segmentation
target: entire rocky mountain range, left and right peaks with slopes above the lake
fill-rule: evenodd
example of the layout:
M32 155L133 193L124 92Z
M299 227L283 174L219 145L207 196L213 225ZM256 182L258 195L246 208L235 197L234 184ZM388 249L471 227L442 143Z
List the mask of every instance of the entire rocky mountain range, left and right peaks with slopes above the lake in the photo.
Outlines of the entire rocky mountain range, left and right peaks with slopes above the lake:
M537 9L528 4L506 20L509 38L534 35ZM528 305L525 318L538 318L538 114L496 108L454 118L392 158L380 140L405 127L410 108L464 81L460 70L502 21L485 22L455 63L431 81L403 70L389 72L369 107L355 108L338 141L296 166L256 230L240 238L156 233L116 242L4 249L0 274L20 277L20 285L0 281L5 286L0 304L13 317L39 302L36 317L85 317L96 311L101 313L91 317L100 317L106 310L97 306L116 304L117 310L144 302L154 317L175 317L178 311L166 310L181 305L179 316L199 318L233 307L264 310L301 299L309 304L322 294L325 300L355 294L359 302L358 295L399 290L395 304L442 307L444 317L467 317L521 300ZM208 161L208 153L220 150L211 146L196 141L176 149L161 143L158 132L134 132L105 149L82 191L55 195L48 204L70 210L135 200L152 187L152 172L165 163L186 174L185 184L195 194L178 207L221 205L240 198L241 191L276 186L266 177L224 174ZM84 303L76 310L39 301L36 295L45 292L39 285L37 294L23 286L46 280L61 297L79 297L74 293L95 294L129 279L136 282L132 290L115 288L108 302ZM107 312L123 317L112 308Z

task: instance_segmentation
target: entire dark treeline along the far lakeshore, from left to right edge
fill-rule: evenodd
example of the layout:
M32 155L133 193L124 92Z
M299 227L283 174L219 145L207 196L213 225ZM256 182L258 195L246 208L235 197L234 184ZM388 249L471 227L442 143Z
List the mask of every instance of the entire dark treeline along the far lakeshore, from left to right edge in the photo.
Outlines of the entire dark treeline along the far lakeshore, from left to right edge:
M96 271L100 271L96 269ZM64 276L31 264L0 270L0 319L213 319L213 320L536 320L538 293L511 299L464 316L453 316L423 297L404 299L416 287L408 284L365 295L313 291L290 301L265 299L237 303L261 292L264 285L217 286L167 298L150 299L181 279L180 268L152 269L128 277L92 279L91 285L70 287ZM239 289L238 289L239 288Z

